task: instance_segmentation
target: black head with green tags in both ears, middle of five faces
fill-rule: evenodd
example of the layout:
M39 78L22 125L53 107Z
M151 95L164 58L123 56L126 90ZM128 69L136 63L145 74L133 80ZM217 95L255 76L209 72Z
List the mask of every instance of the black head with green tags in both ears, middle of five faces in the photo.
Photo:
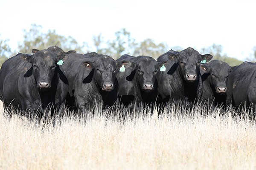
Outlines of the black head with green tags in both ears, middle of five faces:
M157 62L152 57L139 56L137 62L121 61L117 63L118 67L128 68L131 74L134 73L140 89L150 92L155 88L156 75L160 67L168 65L168 62ZM127 79L127 78L126 78Z

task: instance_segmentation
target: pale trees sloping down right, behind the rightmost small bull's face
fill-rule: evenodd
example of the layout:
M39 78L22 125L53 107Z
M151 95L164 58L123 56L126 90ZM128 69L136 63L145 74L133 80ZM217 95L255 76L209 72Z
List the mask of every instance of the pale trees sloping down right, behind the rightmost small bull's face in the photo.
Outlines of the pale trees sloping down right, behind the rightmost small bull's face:
M228 57L227 54L222 54L222 45L216 45L212 44L212 46L209 46L207 48L202 48L201 53L202 54L212 54L213 59L221 60L224 62L227 62L230 66L235 66L239 65L242 63L242 61L233 58L233 57Z

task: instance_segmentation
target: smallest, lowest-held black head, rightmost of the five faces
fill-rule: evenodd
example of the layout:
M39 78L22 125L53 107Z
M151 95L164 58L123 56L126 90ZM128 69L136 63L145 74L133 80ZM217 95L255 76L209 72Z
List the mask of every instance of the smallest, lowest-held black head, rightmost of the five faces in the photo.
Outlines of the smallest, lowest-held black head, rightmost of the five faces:
M210 84L215 89L215 92L217 94L226 94L227 79L232 68L226 62L218 60L202 64L200 68L204 73L209 74Z

